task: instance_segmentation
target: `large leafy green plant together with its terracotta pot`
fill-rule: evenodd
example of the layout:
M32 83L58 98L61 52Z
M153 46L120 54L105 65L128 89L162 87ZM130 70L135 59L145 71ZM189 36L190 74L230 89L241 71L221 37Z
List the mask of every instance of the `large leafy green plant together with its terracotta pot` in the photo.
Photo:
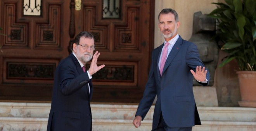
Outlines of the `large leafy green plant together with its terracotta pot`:
M213 4L217 8L209 16L217 19L216 37L224 43L221 50L228 53L219 67L237 60L242 98L239 105L256 107L256 2L225 0L225 3Z

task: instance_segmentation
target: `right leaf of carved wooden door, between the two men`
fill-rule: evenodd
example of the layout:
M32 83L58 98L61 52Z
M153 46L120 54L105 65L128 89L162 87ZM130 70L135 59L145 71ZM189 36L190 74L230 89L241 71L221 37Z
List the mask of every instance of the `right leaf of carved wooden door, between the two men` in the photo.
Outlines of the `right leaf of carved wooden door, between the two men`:
M102 0L83 1L80 27L95 36L98 63L93 74L95 102L139 102L150 64L150 0L122 0L120 18L102 18ZM97 16L97 17L95 17ZM87 69L90 63L87 63Z

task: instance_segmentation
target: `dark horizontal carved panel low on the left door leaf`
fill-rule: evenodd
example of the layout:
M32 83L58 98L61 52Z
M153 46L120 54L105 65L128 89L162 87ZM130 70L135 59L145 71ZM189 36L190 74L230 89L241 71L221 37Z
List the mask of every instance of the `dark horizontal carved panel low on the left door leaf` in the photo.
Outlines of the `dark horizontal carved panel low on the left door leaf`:
M5 84L52 84L55 67L60 59L3 57L3 82Z

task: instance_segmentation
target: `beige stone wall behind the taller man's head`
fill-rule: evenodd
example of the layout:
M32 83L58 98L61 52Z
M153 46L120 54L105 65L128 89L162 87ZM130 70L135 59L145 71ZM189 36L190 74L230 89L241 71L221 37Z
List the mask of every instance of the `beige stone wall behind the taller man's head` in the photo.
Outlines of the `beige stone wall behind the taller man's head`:
M213 2L218 0L156 0L155 5L155 37L154 47L158 47L164 42L164 39L158 27L158 14L163 8L172 8L179 15L180 28L178 34L183 39L189 40L193 30L193 16L195 12L201 11L202 14L208 14L216 8Z

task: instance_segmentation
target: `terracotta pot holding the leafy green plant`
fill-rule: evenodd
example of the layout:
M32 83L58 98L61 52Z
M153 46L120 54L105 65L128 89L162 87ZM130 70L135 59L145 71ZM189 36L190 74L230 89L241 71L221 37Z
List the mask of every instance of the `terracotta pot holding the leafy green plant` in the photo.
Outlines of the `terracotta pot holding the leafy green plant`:
M256 71L237 71L242 101L239 106L256 107Z

